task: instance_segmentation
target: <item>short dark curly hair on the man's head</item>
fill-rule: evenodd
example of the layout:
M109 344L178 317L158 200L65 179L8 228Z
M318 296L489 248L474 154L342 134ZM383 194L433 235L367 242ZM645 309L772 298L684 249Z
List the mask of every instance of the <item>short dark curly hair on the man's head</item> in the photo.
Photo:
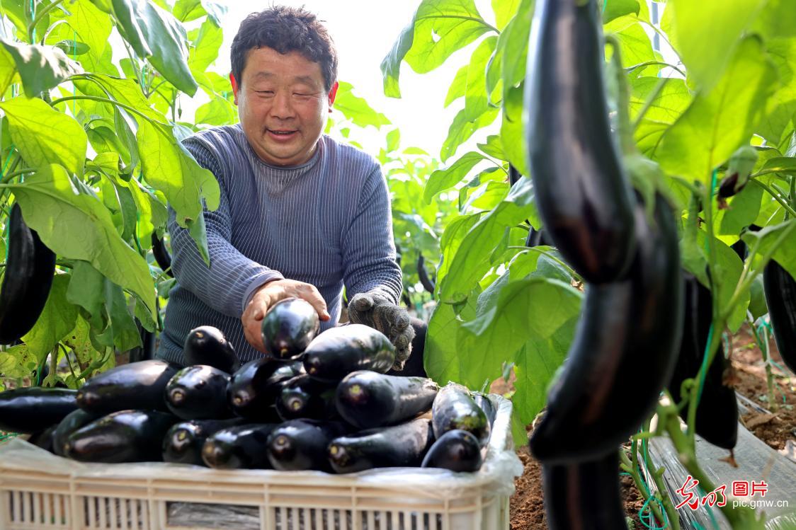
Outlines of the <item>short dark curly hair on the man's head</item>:
M285 54L301 53L321 65L326 92L338 78L338 53L326 27L302 7L271 6L252 13L240 23L232 40L232 75L240 84L249 50L271 48Z

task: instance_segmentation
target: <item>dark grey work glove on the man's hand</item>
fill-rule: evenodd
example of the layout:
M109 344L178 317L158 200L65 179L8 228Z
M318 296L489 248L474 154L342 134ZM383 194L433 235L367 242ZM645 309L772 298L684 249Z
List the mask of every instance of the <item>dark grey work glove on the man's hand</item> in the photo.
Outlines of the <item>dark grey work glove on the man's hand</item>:
M403 370L404 363L412 353L412 339L415 338L415 328L410 325L407 311L377 292L354 294L349 301L348 311L353 324L368 325L387 336L396 347L392 369Z

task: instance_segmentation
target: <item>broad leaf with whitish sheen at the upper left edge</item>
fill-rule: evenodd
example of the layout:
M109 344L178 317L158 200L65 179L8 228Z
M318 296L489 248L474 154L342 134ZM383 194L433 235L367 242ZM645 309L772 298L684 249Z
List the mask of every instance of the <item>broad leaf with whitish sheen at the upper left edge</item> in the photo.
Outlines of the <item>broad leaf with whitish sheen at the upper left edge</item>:
M2 47L14 60L22 80L25 95L32 98L55 88L68 76L82 72L75 61L55 46L26 45L0 40Z

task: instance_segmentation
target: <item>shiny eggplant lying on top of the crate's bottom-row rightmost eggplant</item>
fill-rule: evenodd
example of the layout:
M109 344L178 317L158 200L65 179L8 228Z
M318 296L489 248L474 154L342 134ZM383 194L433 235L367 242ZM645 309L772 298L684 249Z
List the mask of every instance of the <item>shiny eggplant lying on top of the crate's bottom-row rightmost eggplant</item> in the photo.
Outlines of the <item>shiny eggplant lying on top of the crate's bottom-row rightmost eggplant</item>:
M434 435L440 438L447 431L462 429L486 445L490 439L490 423L481 407L475 404L470 391L461 384L447 384L439 389L431 407Z

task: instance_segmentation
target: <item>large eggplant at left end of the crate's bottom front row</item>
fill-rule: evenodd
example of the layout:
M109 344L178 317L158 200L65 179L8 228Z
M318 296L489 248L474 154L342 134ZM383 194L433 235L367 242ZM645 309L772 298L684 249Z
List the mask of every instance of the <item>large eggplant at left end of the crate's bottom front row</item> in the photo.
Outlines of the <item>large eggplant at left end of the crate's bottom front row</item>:
M178 421L158 411L117 411L80 427L64 454L81 462L160 462L163 437Z

